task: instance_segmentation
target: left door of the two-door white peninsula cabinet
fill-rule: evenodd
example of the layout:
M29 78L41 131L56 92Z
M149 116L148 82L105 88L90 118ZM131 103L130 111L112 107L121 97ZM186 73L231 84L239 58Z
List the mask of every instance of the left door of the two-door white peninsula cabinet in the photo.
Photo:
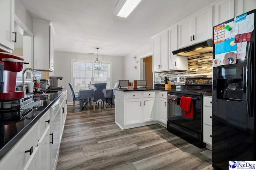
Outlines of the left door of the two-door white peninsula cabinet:
M142 123L142 98L125 100L125 125Z

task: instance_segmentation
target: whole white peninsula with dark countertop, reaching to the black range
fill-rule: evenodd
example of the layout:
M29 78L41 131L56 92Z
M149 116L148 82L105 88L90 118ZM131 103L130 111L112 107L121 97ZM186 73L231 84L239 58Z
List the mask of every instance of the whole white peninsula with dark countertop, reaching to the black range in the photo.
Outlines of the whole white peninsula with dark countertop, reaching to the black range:
M160 124L166 127L167 90L116 89L116 124L121 129Z

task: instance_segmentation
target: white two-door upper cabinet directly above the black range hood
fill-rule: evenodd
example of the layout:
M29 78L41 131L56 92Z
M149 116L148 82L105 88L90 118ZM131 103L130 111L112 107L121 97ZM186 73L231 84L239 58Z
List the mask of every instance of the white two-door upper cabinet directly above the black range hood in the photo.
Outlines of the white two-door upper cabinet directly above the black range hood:
M178 24L178 48L212 38L212 7Z

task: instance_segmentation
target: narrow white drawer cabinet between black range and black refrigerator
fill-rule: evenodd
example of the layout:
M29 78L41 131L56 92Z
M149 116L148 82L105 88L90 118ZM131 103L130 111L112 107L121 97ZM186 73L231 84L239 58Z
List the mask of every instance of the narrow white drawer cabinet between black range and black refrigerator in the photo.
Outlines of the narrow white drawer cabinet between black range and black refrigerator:
M212 96L203 96L203 142L212 149Z

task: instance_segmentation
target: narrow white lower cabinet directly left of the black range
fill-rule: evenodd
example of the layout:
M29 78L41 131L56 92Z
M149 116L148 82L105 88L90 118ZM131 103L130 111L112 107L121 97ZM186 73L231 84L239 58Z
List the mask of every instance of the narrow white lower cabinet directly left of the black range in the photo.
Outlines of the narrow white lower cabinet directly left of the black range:
M159 92L158 121L167 126L167 92Z

